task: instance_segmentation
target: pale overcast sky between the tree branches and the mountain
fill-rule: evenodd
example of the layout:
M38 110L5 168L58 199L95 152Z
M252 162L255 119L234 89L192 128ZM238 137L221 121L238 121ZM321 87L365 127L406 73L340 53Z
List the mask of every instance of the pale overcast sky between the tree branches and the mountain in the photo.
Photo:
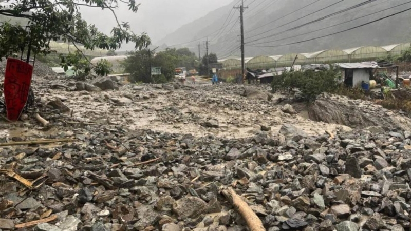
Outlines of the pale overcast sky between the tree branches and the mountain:
M136 2L141 3L137 13L128 10L126 6L121 6L116 10L117 17L120 22L129 22L135 33L147 32L155 43L166 34L229 4L232 0L136 0ZM83 7L81 12L88 23L95 24L102 32L109 33L115 26L115 18L109 10ZM123 46L121 50L132 49L132 47Z

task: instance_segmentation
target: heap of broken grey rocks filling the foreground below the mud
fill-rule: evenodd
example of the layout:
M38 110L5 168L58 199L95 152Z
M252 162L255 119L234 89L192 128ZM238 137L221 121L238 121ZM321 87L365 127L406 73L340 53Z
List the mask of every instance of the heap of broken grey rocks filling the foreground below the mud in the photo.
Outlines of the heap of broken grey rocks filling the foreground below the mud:
M244 219L220 194L224 187L234 187L270 231L411 225L408 131L369 127L330 139L284 125L276 136L225 139L81 130L81 142L59 148L0 152L3 169L17 163L27 179L49 175L28 197L18 195L24 186L3 180L0 229L57 215L57 223L35 229L244 230Z

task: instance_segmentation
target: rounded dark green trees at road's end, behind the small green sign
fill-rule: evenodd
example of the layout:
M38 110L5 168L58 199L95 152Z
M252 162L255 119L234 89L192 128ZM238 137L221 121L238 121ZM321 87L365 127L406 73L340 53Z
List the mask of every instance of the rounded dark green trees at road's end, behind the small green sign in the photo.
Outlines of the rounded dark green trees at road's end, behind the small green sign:
M173 79L177 67L185 67L188 70L196 68L195 54L188 48L167 48L157 53L144 49L129 55L123 66L125 72L132 74L135 82L166 82ZM151 67L161 67L162 75L152 77Z

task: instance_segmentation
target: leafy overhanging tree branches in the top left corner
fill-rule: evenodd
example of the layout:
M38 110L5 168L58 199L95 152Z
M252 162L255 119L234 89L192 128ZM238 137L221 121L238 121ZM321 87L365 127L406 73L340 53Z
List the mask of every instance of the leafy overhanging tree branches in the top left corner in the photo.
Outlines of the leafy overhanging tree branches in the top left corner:
M0 15L25 18L27 25L0 23L0 60L21 52L31 44L33 53L49 54L51 41L63 41L74 46L80 44L87 50L116 50L123 43L134 43L136 49L146 48L150 38L142 33L137 35L126 22L119 22L114 9L126 4L129 10L137 12L139 4L135 0L0 0ZM95 25L87 24L81 17L79 7L97 7L113 12L117 26L110 35L100 32ZM84 66L86 56L80 51L60 56L62 67ZM87 60L86 60L87 62ZM88 62L89 63L89 62ZM90 64L90 63L89 63ZM84 71L94 69L97 74L110 72L106 62L85 67Z

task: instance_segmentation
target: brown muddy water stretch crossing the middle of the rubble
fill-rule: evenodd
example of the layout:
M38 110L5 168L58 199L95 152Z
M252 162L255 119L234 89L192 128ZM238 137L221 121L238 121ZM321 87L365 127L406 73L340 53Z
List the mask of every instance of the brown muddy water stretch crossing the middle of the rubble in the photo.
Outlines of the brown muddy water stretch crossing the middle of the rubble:
M324 134L325 130L336 131L341 127L314 122L300 115L284 114L281 106L274 102L246 99L230 91L212 92L201 87L141 91L132 90L132 87L97 93L50 90L45 98L53 100L56 95L67 98L64 103L73 110L73 119L80 121L122 125L129 129L191 133L194 136L212 133L218 137L245 138L258 131L261 124L270 126L271 132L276 133L284 123L289 123L313 135ZM124 94L133 95L133 103L117 106L110 100L124 98ZM141 99L141 95L149 94L152 94L150 99ZM245 109L224 106L227 102L242 105ZM179 118L183 118L184 122L179 122ZM208 119L216 119L220 128L202 127L200 121Z

